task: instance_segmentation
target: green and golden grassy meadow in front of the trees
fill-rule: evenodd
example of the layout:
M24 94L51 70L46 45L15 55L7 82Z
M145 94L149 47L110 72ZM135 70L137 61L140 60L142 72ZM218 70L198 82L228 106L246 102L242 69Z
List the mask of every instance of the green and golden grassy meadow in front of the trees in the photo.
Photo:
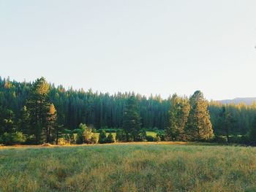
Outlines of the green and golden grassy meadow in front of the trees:
M118 144L0 149L0 191L256 191L256 148Z

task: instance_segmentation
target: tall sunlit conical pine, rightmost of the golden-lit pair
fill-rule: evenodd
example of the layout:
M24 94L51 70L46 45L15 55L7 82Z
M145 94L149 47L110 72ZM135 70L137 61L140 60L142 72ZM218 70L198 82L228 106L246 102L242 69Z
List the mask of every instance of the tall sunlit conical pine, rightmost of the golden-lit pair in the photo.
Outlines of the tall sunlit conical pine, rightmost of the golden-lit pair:
M203 93L196 91L189 99L191 106L187 122L187 139L192 141L208 140L214 137L208 112L208 101Z

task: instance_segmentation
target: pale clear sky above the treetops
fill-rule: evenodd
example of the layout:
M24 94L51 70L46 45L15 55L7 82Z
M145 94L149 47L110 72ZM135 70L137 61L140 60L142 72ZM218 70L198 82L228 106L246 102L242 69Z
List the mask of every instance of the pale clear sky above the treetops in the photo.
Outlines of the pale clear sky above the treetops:
M0 0L0 76L114 93L256 96L255 0Z

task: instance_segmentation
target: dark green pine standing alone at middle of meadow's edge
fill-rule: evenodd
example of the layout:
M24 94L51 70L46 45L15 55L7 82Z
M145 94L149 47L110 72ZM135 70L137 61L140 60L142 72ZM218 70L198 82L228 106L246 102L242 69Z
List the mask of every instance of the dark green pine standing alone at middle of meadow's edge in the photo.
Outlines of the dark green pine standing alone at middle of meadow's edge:
M127 100L127 104L124 109L123 128L126 132L127 142L130 139L133 141L138 141L140 139L140 114L138 112L138 104L134 95L130 96Z

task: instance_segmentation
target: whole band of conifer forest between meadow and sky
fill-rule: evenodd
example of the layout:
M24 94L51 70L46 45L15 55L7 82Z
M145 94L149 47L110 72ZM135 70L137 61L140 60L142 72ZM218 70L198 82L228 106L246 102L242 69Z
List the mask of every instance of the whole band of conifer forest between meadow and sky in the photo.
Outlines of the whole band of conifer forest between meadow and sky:
M221 104L203 93L167 99L137 93L67 90L0 77L0 143L105 143L146 140L255 144L256 103ZM155 131L156 138L146 136ZM108 133L108 135L106 134ZM99 133L99 137L95 137ZM110 133L110 134L109 134ZM116 138L113 137L114 133Z

